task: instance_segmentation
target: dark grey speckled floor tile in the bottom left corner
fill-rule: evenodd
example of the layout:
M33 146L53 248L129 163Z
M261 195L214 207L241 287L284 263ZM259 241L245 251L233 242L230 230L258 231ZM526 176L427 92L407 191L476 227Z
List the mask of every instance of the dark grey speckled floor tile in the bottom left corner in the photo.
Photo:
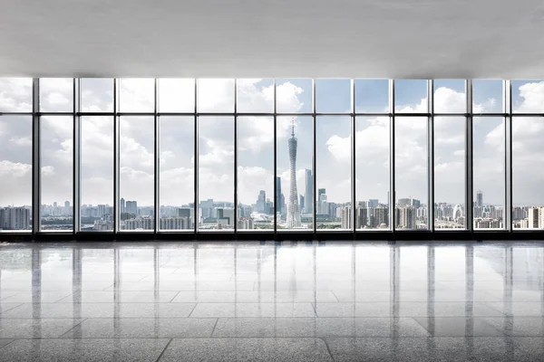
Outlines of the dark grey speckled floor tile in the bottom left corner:
M3 361L155 362L169 339L18 339L0 350Z

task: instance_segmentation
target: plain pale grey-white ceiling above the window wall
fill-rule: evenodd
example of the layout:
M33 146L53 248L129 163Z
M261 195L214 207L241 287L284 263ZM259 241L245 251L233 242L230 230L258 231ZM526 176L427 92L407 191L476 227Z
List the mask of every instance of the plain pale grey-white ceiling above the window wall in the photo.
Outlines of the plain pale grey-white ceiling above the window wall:
M0 76L544 78L544 1L0 0Z

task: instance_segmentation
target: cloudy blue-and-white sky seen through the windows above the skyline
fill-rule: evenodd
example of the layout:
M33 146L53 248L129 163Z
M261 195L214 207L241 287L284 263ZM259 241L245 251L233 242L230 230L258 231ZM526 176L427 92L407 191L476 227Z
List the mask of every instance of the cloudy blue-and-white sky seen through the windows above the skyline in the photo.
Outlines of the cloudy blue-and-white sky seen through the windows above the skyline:
M274 110L272 80L238 80L238 111L270 113ZM388 112L388 81L356 80L355 110ZM199 80L199 112L233 112L233 80ZM72 79L41 80L41 110L73 109ZM103 79L82 81L82 110L113 110L113 82ZM193 112L194 80L160 80L160 112ZM503 109L501 81L473 81L475 115ZM0 111L32 110L32 81L0 79ZM312 81L277 80L278 112L311 112ZM395 82L395 110L403 113L427 110L425 81ZM316 80L316 111L345 112L351 109L349 80ZM434 81L435 112L464 113L463 81ZM152 112L153 81L120 81L118 107L121 112ZM513 203L544 205L541 190L544 174L544 118L524 117L523 113L544 113L544 81L512 81ZM73 173L73 125L70 117L44 116L42 122L42 202L71 201ZM304 170L312 169L313 122L305 116L278 115L277 123L268 116L238 117L238 200L251 205L260 190L274 196L274 148L277 176L288 198L289 160L287 140L291 122L297 138L296 177L298 194L305 194ZM199 117L199 199L234 201L234 132L231 116ZM464 117L434 119L435 202L464 202ZM357 201L377 198L386 203L390 183L390 119L385 116L358 116L355 119L355 189ZM194 193L195 121L192 116L161 116L159 119L160 205L187 205ZM120 126L120 195L153 203L154 141L152 117L122 116ZM274 144L274 131L277 139ZM504 203L503 119L474 117L474 192L481 189L484 203ZM396 197L413 197L427 203L427 119L395 119ZM82 118L82 205L113 203L113 119L111 116ZM32 128L29 116L0 116L0 205L30 205L32 175ZM316 184L325 188L329 202L351 199L352 155L349 116L316 118Z

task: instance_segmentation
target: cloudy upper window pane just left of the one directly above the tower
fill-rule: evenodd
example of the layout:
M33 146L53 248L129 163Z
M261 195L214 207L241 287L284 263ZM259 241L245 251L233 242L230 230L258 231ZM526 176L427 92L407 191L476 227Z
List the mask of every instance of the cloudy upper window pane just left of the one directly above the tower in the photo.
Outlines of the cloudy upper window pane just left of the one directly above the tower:
M238 79L238 112L274 111L274 81L267 79Z

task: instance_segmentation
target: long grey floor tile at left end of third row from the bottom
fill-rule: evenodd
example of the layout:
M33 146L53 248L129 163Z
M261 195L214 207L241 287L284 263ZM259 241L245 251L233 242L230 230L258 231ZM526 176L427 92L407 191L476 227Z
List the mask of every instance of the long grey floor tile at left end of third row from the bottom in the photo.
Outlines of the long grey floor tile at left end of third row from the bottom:
M195 303L23 304L0 318L185 318Z

